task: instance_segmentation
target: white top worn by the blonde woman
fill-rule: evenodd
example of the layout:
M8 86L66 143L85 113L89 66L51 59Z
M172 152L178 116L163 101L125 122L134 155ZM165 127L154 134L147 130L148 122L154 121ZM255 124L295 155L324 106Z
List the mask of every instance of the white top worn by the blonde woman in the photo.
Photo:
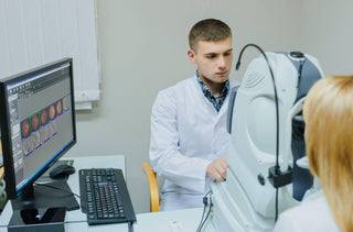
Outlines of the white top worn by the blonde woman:
M310 196L299 207L295 207L280 214L274 232L339 232L323 191Z

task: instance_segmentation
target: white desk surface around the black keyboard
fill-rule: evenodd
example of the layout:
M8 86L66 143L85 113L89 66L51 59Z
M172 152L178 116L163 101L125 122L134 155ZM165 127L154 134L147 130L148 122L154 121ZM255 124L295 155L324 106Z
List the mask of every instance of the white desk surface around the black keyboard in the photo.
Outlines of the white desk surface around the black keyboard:
M63 159L74 159L76 173L71 175L67 183L73 192L79 195L78 170L92 167L114 167L120 168L126 178L125 156L124 155L104 155L104 156L86 156L86 157L65 157ZM146 196L143 196L146 197ZM79 199L77 199L79 202ZM202 217L202 208L175 210L164 212L150 212L136 214L137 221L133 223L133 232L195 232ZM12 216L11 203L8 202L0 217L0 232L7 231L6 225L9 223ZM172 230L172 224L180 228ZM118 224L87 224L86 214L79 210L68 211L65 219L65 231L129 231L127 223Z

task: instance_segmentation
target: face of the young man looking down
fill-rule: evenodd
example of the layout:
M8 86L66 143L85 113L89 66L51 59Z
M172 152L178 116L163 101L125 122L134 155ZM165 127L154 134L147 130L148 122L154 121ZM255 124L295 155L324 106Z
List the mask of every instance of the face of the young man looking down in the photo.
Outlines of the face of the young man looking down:
M221 84L228 79L233 62L232 37L220 42L200 41L195 51L189 49L188 56L195 64L203 81Z

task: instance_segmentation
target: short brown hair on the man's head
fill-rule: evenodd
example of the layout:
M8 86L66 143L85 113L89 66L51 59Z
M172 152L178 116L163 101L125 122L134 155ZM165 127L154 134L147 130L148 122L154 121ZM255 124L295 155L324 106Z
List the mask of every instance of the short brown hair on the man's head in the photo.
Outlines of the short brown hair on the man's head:
M206 19L192 26L189 33L190 48L195 51L199 41L218 42L232 36L231 27L221 20Z

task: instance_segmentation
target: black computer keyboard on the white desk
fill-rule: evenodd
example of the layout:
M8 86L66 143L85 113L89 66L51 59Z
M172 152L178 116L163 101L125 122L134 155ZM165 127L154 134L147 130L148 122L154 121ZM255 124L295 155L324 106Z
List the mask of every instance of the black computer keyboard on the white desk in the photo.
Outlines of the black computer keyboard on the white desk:
M81 169L78 176L81 207L89 225L136 221L121 169Z

